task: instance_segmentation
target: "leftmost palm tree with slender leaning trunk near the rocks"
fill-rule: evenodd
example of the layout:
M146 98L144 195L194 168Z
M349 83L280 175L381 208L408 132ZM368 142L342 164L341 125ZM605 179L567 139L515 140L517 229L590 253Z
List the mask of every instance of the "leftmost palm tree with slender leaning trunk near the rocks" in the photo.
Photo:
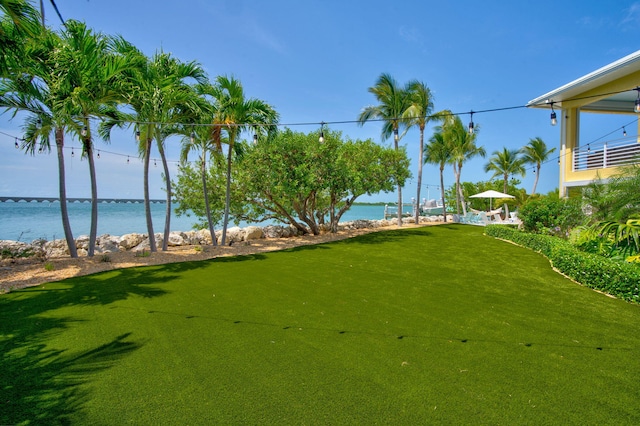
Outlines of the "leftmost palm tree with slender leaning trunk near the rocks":
M62 40L51 31L29 40L24 46L22 66L24 73L0 79L0 107L26 113L22 148L34 154L51 150L53 134L58 159L58 197L62 229L69 255L78 257L76 243L69 223L64 164L64 137L68 127L68 115L60 108L60 100L68 96L69 88L62 84L66 64L58 60Z

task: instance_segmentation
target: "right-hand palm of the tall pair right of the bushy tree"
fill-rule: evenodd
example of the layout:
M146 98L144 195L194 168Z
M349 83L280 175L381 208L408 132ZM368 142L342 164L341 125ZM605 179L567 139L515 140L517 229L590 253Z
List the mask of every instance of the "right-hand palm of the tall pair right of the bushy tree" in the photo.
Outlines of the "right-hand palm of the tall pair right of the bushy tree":
M422 187L422 165L424 163L424 129L431 120L431 111L433 111L433 95L431 90L421 81L412 80L407 84L409 97L411 98L411 106L407 109L404 116L409 120L407 127L418 126L420 129L420 150L418 156L418 189L416 191L416 200L420 203L420 189ZM415 223L420 223L420 209L416 209ZM446 217L445 217L446 220Z

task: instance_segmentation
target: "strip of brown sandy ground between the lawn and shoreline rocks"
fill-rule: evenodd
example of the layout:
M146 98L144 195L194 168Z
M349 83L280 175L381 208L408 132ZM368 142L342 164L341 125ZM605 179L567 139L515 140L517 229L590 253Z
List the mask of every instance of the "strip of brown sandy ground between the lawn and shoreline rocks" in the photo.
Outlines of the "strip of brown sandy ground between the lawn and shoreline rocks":
M404 224L402 228L411 228L416 226L425 225ZM264 253L298 247L301 245L343 240L356 235L390 229L398 229L398 227L388 226L358 229L341 231L336 234L323 234L316 236L306 235L293 238L263 238L260 240L252 240L250 242L236 243L231 247L201 246L202 250L197 250L194 246L170 247L166 252L158 251L156 253L151 253L146 257L136 255L136 253L133 252L117 252L109 253L108 255L98 254L93 258L80 257L78 259L71 259L69 257L47 260L5 259L0 261L0 293L113 269L205 260L220 256Z

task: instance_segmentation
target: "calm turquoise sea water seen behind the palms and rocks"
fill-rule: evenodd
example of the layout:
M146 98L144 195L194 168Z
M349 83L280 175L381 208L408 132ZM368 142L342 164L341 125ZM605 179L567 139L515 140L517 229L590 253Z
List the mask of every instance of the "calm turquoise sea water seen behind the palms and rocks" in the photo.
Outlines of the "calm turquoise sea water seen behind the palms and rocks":
M88 235L91 222L91 205L89 203L70 203L69 221L74 237ZM162 232L164 229L165 204L151 205L153 229ZM411 206L405 206L410 212ZM356 219L382 219L384 206L356 205L342 216L341 222ZM175 214L171 217L172 231L188 231L193 229L194 217ZM266 226L270 222L257 223ZM272 223L272 222L271 222ZM240 226L247 226L241 223ZM233 226L231 224L230 226ZM220 227L216 227L220 229ZM144 218L144 205L125 203L98 204L98 235L124 235L132 232L146 234L147 225ZM60 219L60 203L54 202L4 202L0 203L0 240L31 242L38 238L54 240L64 238Z

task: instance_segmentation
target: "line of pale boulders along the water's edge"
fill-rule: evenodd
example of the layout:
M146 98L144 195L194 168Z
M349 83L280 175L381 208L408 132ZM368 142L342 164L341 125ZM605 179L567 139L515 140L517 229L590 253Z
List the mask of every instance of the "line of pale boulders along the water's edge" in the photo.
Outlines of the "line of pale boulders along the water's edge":
M442 216L421 217L421 223L442 222ZM404 218L404 223L413 223L413 218ZM360 219L351 222L340 223L338 231L349 231L356 229L368 229L392 226L397 223L397 219L368 220ZM300 236L298 229L290 225L268 225L265 227L248 226L245 228L232 227L227 229L227 241L229 245L237 243L250 243L252 240L263 238L291 238ZM163 234L154 234L156 245L163 245ZM222 236L221 230L216 230L216 240L220 244ZM89 236L81 235L76 240L76 248L79 256L86 256L89 246ZM208 229L199 231L172 231L169 234L167 245L169 247L181 246L203 246L211 245L213 242ZM117 252L144 252L149 251L149 238L147 234L131 233L122 236L109 234L100 235L96 238L96 254L109 254ZM39 258L55 259L69 256L69 249L66 240L58 239L47 241L43 239L35 240L31 243L20 241L0 240L0 259L3 258Z

